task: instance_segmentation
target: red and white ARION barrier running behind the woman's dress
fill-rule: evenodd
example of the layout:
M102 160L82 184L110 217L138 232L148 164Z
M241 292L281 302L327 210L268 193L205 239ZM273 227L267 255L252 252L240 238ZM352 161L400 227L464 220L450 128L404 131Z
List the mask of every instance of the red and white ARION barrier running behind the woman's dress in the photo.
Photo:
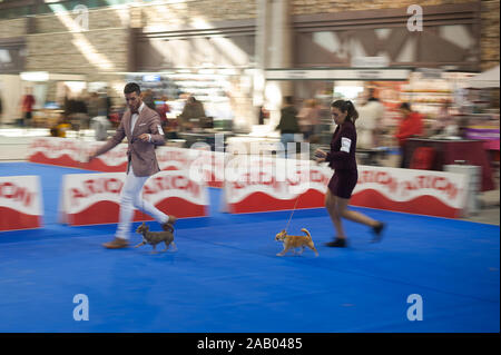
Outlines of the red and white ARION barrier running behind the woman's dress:
M284 210L293 209L296 201L296 208L324 207L334 174L328 167L314 162L294 167L279 159L261 167L252 159L247 166L242 161L230 170L227 167L225 210L234 214ZM460 174L358 166L351 205L458 218L466 206L468 184L468 177Z

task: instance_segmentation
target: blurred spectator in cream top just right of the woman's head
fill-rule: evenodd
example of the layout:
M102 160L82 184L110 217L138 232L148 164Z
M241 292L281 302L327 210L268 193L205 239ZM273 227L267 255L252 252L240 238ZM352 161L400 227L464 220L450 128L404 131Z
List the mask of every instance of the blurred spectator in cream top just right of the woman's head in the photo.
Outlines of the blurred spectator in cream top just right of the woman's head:
M384 106L374 96L358 110L360 118L356 120L358 132L357 148L372 149L379 146L379 136L382 134L382 120Z

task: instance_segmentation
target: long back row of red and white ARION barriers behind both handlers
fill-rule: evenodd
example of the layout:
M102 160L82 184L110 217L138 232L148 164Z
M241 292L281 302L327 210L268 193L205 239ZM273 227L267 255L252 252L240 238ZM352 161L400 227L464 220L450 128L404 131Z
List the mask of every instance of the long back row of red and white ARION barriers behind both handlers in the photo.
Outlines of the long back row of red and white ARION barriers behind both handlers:
M125 171L125 144L90 162L80 162L90 149L102 144L39 138L32 142L29 160L98 171ZM326 185L334 174L328 167L314 162L305 167L305 161L287 160L285 167L283 159L258 157L256 160L244 156L242 160L203 149L158 147L156 155L161 170L186 171L198 184L224 187L224 209L235 214L293 209L296 201L296 208L323 207ZM232 177L228 179L228 176ZM466 206L466 190L468 178L458 174L358 166L358 184L351 204L456 218Z

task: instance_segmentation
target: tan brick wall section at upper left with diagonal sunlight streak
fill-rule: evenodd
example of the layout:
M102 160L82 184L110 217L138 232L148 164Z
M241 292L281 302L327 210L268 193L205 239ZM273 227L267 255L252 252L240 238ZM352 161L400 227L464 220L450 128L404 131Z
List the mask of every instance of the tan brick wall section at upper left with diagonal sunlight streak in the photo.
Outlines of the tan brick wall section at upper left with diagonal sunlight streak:
M76 32L81 13L72 11L36 17L27 36L26 70L58 73L127 71L129 10L88 11L88 31Z

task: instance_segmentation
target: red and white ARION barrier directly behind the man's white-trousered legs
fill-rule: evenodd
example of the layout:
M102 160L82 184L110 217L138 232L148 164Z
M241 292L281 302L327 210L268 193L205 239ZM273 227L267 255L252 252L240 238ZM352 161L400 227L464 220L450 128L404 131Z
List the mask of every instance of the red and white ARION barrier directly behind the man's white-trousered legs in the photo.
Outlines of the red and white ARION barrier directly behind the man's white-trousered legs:
M65 175L61 187L60 221L72 226L118 223L125 172ZM204 184L186 171L160 171L150 177L143 198L178 218L207 216L208 197ZM135 211L135 221L153 220Z

